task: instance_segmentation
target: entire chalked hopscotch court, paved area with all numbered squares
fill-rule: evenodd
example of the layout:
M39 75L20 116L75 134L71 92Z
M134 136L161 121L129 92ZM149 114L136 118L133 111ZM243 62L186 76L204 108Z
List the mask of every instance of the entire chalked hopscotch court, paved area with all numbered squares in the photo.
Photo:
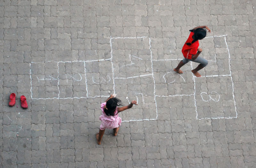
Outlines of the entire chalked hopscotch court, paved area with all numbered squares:
M133 110L120 115L127 122L237 118L226 36L206 41L213 43L211 49L202 46L203 57L209 60L200 71L202 78L191 73L197 63L188 63L183 74L176 74L172 69L181 59L153 59L149 37L110 37L111 57L101 60L31 62L31 99L86 99L115 92L124 105L138 101ZM163 72L158 65L170 67Z

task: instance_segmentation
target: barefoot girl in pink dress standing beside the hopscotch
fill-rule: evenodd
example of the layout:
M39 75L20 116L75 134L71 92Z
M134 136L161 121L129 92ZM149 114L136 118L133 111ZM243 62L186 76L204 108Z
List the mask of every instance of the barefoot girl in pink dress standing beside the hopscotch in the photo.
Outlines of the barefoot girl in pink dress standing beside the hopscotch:
M137 105L137 102L133 100L129 105L123 107L120 106L121 100L115 98L113 95L106 100L106 102L101 103L100 109L102 114L100 116L101 125L100 131L96 134L97 143L100 145L105 129L114 129L114 136L117 135L119 126L121 126L122 119L118 117L118 113L127 109L132 108L133 104Z

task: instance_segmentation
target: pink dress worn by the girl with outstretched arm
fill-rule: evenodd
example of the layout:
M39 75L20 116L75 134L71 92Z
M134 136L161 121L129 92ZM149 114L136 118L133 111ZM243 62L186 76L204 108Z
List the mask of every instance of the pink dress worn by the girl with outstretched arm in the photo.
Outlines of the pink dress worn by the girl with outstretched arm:
M107 116L104 112L104 106L106 105L106 102L101 103L100 109L102 111L102 114L100 115L100 130L104 130L106 128L113 129L121 126L122 119L118 117L117 107L115 111L114 116Z

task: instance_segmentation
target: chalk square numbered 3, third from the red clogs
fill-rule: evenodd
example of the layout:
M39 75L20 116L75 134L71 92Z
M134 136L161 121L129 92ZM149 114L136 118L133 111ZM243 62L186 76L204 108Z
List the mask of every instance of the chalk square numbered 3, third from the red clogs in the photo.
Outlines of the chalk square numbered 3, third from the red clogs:
M110 60L86 62L85 69L87 97L108 96L114 92Z

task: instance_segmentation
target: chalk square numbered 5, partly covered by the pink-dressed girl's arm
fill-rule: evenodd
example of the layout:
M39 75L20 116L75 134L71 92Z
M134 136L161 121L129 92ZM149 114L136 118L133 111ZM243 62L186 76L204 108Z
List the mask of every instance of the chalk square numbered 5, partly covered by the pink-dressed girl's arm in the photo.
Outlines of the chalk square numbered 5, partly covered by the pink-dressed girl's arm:
M115 91L124 105L136 100L138 105L122 113L122 120L150 120L156 118L154 80L152 74L134 78L116 78Z

